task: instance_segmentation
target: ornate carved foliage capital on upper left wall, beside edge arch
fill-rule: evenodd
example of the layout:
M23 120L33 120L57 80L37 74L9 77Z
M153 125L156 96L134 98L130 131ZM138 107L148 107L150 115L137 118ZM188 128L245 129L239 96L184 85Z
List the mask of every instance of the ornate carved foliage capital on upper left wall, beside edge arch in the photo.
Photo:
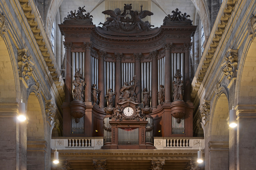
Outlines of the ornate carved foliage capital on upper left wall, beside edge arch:
M27 56L25 51L22 51L18 55L18 67L19 76L23 77L26 81L29 80L29 76L32 76L33 67L30 63L31 56Z

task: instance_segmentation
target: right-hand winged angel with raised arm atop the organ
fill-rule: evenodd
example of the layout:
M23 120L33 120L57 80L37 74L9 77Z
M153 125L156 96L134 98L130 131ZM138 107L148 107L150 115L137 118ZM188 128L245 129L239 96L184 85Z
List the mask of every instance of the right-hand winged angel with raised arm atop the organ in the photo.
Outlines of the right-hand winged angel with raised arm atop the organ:
M142 19L146 16L150 16L153 15L152 12L150 12L149 10L142 10L143 5L140 6L141 7L141 12L139 13L137 10L133 11L130 10L130 15L132 16L133 19L133 23L135 24L135 28L137 30L141 30L141 27L154 27L151 24L149 24L148 21L144 22L142 21Z

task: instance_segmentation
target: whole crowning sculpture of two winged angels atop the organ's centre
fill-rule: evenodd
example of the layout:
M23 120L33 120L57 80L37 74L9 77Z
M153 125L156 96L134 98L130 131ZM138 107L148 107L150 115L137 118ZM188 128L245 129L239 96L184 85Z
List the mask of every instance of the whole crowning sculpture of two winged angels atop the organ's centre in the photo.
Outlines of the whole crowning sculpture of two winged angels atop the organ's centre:
M102 29L108 30L108 28L110 28L112 30L115 30L115 31L117 30L120 32L135 31L136 33L138 30L144 31L148 29L148 31L150 31L150 30L157 29L157 28L154 28L154 29L150 28L154 26L152 26L148 21L146 22L142 21L143 18L145 18L146 16L153 15L153 13L148 10L142 10L142 7L143 7L142 5L140 7L141 7L140 13L137 10L135 11L131 10L132 4L124 4L124 12L122 14L119 8L116 8L114 11L113 10L103 11L102 12L103 14L110 15L110 17L107 17L107 21L105 23L100 22L100 24L103 25ZM126 16L128 14L130 14L131 18Z

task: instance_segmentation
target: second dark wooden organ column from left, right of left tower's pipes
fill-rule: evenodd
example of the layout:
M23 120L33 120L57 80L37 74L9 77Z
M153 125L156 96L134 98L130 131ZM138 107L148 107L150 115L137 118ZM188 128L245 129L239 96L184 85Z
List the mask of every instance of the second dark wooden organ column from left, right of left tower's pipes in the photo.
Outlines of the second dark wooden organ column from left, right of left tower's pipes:
M84 42L85 45L85 103L92 105L92 68L91 68L91 48L92 42Z

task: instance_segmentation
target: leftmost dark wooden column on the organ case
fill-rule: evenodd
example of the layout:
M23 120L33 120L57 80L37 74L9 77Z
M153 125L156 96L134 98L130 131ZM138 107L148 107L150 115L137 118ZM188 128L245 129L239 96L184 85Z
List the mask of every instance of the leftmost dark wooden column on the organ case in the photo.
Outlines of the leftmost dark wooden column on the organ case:
M63 42L66 50L66 70L65 70L65 101L72 101L72 77L71 75L71 48L72 42Z

